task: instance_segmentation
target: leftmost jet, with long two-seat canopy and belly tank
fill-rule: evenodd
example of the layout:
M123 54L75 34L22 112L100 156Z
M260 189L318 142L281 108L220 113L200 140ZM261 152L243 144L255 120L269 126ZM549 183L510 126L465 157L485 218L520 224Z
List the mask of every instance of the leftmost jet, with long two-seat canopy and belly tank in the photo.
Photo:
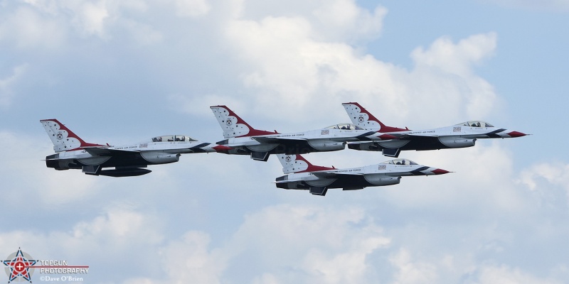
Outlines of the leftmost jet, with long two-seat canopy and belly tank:
M53 142L53 155L46 157L48 168L82 169L87 175L129 177L146 175L147 165L175 163L184 153L226 153L229 148L196 141L187 135L167 135L128 146L87 143L57 119L41 120ZM112 168L104 170L104 168Z

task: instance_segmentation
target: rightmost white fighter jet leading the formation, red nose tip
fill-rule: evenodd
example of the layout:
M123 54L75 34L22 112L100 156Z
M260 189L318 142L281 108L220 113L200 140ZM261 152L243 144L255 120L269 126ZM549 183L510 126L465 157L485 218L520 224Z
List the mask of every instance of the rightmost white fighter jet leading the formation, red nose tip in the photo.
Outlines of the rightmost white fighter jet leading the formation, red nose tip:
M400 129L385 126L357 102L349 102L342 105L356 126L362 129L381 131L397 137L390 141L349 143L348 148L363 151L382 151L383 155L395 158L399 156L400 151L465 148L474 146L477 139L514 138L528 135L518 131L499 129L484 121L467 121L439 129L420 131L413 131L407 128Z

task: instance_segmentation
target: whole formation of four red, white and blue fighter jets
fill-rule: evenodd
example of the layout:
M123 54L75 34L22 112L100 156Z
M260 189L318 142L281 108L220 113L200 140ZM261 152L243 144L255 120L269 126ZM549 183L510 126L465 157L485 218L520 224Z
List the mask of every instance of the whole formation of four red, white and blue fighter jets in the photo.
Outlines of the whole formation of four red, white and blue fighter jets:
M250 155L253 160L262 161L277 154L286 174L275 180L277 187L326 195L329 188L361 190L370 186L395 185L403 176L449 173L398 158L400 151L464 148L474 146L479 138L526 136L484 121L467 121L421 131L400 129L385 126L356 102L343 106L351 124L334 124L297 133L254 129L228 107L211 107L225 138L216 144L196 141L187 135L157 136L128 146L87 143L57 119L46 119L41 120L41 124L56 152L46 157L46 165L55 170L81 169L87 175L126 177L150 173L151 170L146 169L148 165L175 163L184 153ZM381 151L395 159L360 168L336 169L312 165L301 155L344 150L346 144L355 150Z

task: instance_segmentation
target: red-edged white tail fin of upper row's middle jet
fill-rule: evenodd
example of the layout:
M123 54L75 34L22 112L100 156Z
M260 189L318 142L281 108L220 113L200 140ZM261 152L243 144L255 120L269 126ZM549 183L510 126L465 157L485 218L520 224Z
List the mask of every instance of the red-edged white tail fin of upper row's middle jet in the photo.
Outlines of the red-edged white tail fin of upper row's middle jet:
M258 136L275 134L275 132L264 131L252 128L247 122L241 119L235 112L225 106L209 107L218 119L219 126L223 129L223 138Z

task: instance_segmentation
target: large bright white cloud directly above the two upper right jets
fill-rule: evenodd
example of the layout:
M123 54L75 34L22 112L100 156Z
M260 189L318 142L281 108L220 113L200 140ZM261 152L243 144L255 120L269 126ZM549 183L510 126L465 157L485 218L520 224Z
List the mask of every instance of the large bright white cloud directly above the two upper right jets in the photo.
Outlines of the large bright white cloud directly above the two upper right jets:
M341 116L339 103L354 100L381 107L381 117L395 121L466 120L464 114L484 117L496 107L493 87L473 70L494 53L495 33L459 43L437 39L427 50L415 49L415 67L405 70L345 42L320 38L318 24L309 16L236 18L228 24L227 39L243 65L243 86L250 89L243 99L254 100L260 116L329 121L332 114Z

